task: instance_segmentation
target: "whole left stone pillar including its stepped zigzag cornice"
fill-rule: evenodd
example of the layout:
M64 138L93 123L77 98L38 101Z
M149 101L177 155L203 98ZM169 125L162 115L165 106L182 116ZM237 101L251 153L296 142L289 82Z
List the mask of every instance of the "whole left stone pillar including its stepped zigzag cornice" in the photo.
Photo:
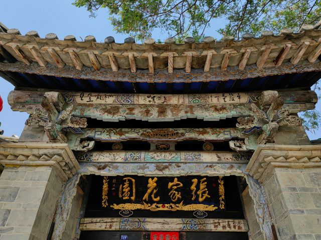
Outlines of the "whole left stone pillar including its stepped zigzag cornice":
M79 169L67 144L3 143L0 240L47 239L62 184Z

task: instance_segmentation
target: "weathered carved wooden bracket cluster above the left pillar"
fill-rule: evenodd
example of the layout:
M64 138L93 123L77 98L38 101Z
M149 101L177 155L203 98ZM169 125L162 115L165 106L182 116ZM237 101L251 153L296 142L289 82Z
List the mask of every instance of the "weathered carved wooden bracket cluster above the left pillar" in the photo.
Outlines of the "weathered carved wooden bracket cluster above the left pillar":
M59 92L46 92L42 97L41 106L29 116L28 126L43 126L50 142L67 142L64 131L81 132L87 126L85 117L73 116L73 104L66 103Z

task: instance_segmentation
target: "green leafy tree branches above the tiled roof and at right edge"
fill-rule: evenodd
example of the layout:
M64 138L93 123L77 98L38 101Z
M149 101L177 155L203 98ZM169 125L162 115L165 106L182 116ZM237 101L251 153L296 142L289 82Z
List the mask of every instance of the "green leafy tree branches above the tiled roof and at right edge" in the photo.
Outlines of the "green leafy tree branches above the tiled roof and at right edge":
M303 24L321 25L321 0L74 0L73 4L87 7L91 16L107 8L114 30L139 40L158 28L177 42L190 35L200 41L205 29L217 21L225 22L219 33L236 39L246 32L259 36L263 30L278 33L283 28L297 31ZM317 110L306 111L302 118L306 129L319 128Z

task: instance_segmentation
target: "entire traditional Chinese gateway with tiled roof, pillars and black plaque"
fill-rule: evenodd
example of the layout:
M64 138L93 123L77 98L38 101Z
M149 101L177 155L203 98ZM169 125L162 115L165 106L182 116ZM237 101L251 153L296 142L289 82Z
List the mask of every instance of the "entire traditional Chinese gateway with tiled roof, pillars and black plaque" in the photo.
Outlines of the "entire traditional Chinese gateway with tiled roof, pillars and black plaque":
M1 27L30 114L0 143L0 239L319 239L320 24L143 44Z

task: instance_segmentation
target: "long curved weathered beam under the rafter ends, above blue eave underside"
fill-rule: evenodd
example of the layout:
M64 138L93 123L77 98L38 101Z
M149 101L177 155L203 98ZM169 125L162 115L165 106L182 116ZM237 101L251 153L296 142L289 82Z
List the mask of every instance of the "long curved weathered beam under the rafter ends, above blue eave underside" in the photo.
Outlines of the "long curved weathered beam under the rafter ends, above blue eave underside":
M112 59L112 57L110 57ZM14 63L0 62L1 71L14 71L22 73L50 75L58 77L70 77L78 79L92 79L103 81L126 81L126 82L186 82L186 72L184 69L175 70L175 74L169 74L171 72L171 58L169 56L169 69L159 70L157 74L150 74L148 70L138 70L136 73L131 73L130 70L119 69L117 72L113 72L111 69L101 68L99 71L93 70L90 67L83 67L82 70L78 70L74 67L65 66L63 70L55 67L52 64L47 64L46 67L39 66L38 63L33 62L30 65L26 65L23 62L17 61ZM110 60L110 59L109 59ZM114 59L113 59L114 60ZM116 70L116 62L113 61L114 68ZM274 62L271 66L275 66ZM61 65L60 65L61 66ZM113 65L112 65L113 66ZM229 68L226 71L222 71L219 68L211 68L209 72L204 72L204 69L191 69L191 73L188 79L189 82L208 82L208 81L227 81L236 79L246 79L255 77L264 77L272 75L283 75L291 73L302 73L308 71L320 71L321 62L315 61L310 63L307 60L300 62L299 67L293 67L293 64L285 62L281 66L268 67L269 64L264 65L266 68L257 69L255 65L246 65L244 70L236 68ZM134 74L134 78L133 78Z

